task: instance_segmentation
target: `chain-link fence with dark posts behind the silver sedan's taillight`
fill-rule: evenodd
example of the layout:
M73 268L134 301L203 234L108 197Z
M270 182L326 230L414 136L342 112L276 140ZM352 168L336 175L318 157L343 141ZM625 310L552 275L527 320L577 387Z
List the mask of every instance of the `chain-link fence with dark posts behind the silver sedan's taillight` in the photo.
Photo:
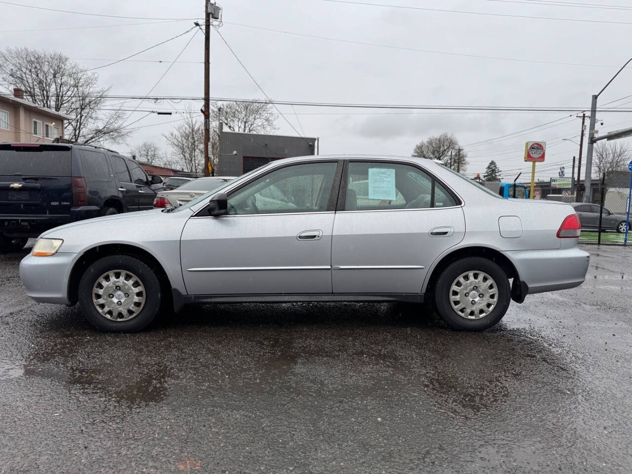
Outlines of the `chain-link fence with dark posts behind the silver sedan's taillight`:
M628 241L632 245L626 224L629 173L602 175L591 194L589 202L574 204L581 222L580 242L625 245Z

